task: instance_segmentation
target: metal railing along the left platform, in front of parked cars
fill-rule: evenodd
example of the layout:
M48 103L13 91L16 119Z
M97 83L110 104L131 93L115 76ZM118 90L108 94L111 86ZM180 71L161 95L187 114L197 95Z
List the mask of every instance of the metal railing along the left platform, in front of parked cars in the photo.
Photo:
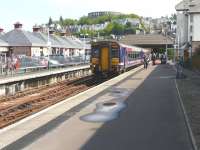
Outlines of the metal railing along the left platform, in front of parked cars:
M65 57L62 55L50 55L48 57L0 57L0 76L12 76L16 74L24 74L27 72L48 70L52 68L83 65L88 64L89 61L90 56Z

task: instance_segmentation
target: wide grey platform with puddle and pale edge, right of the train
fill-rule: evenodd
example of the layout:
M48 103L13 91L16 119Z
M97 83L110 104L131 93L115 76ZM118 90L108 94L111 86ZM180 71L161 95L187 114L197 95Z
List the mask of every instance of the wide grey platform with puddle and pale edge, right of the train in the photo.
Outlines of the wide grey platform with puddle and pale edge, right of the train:
M1 129L0 149L193 150L175 75L133 69Z

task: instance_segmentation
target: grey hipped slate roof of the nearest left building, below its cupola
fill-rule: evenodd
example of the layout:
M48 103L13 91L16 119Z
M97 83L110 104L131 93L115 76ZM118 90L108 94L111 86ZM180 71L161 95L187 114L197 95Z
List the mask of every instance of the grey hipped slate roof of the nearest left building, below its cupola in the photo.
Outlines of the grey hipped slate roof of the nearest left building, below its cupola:
M9 46L46 46L44 41L33 36L31 32L19 29L5 33L1 39L6 41Z

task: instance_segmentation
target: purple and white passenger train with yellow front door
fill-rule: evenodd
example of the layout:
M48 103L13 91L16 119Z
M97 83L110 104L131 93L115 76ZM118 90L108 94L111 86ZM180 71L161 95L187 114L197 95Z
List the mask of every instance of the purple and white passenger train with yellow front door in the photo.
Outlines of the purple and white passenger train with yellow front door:
M90 68L95 75L120 74L143 63L150 50L106 40L91 43Z

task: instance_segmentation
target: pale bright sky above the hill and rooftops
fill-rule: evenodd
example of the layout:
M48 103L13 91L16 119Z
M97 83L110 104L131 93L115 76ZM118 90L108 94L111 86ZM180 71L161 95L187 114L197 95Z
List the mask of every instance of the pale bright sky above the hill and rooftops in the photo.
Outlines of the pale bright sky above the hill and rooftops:
M144 17L161 17L175 13L175 5L181 0L2 0L0 28L13 29L17 21L24 30L32 30L35 24L63 18L78 19L94 11L135 13Z

